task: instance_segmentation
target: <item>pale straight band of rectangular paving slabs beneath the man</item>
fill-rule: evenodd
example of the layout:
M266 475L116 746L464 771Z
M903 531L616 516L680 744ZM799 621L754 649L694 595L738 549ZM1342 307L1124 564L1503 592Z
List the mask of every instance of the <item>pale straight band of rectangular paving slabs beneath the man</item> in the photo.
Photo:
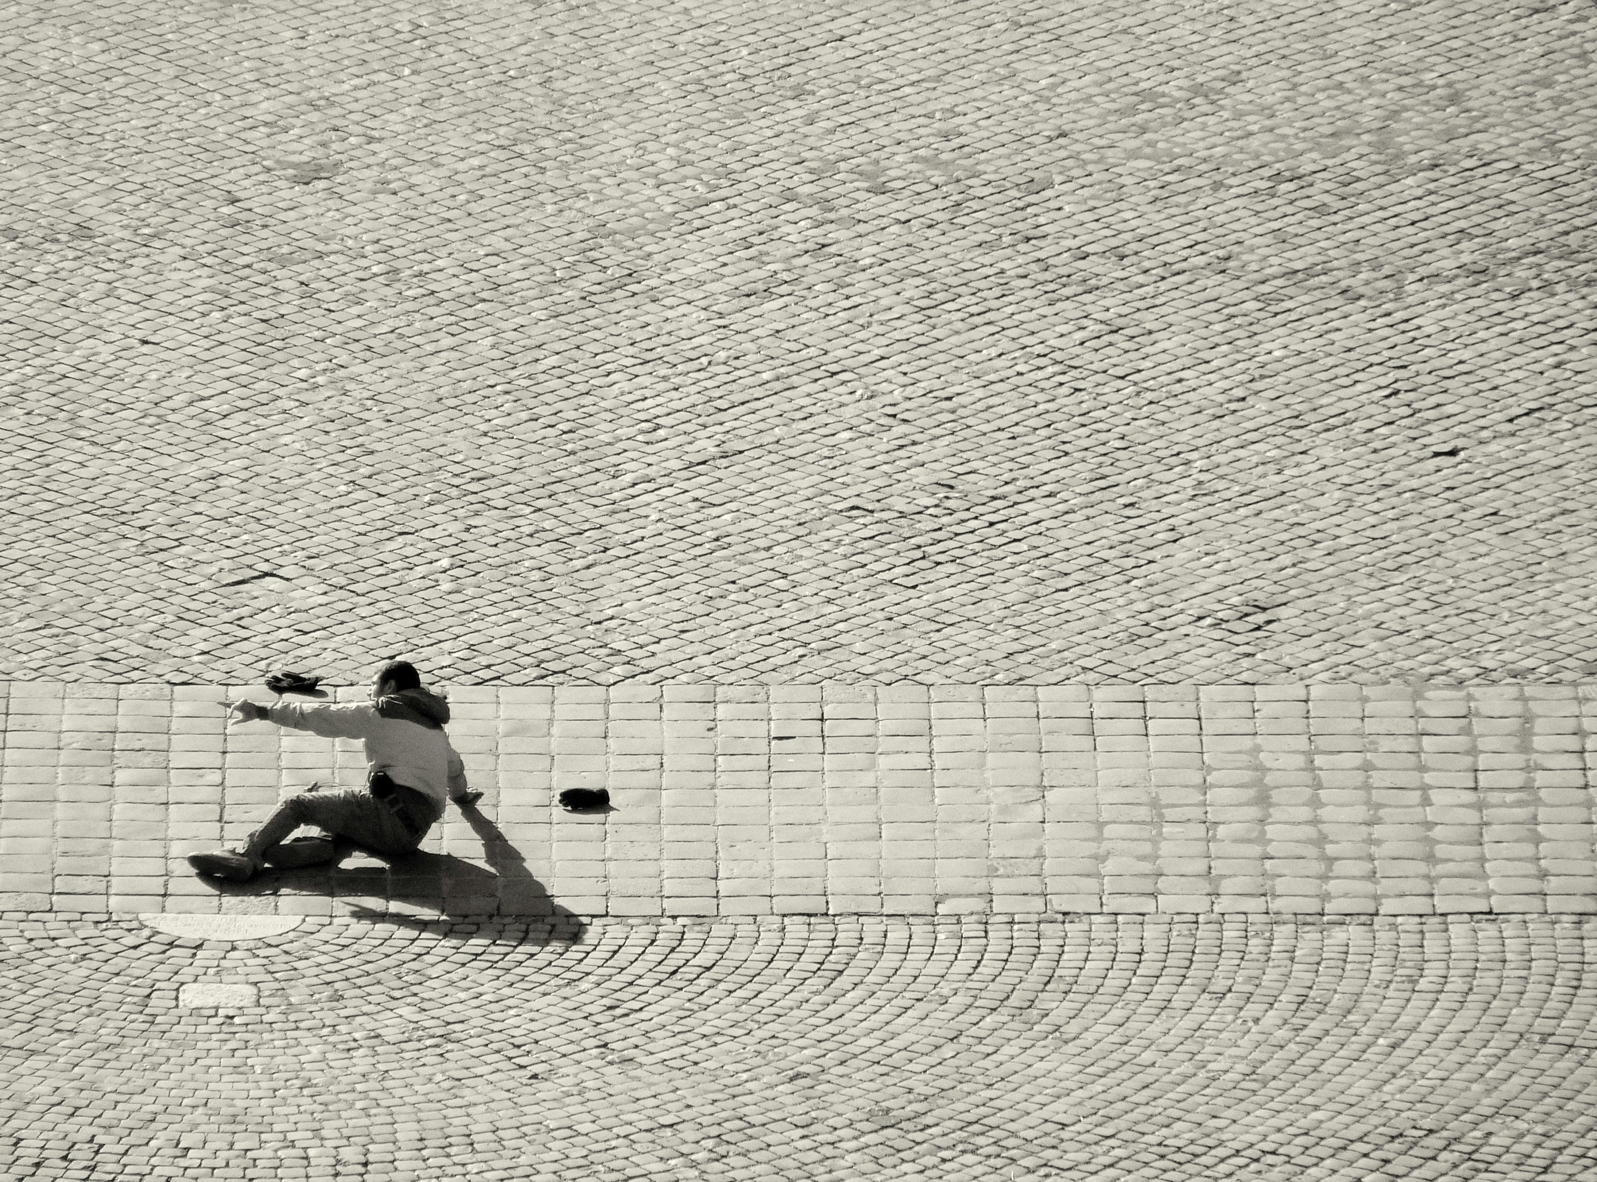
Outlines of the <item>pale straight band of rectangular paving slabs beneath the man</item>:
M460 687L481 813L228 888L184 855L364 762L222 696L13 685L0 909L1597 910L1597 685ZM553 802L597 786L608 813Z

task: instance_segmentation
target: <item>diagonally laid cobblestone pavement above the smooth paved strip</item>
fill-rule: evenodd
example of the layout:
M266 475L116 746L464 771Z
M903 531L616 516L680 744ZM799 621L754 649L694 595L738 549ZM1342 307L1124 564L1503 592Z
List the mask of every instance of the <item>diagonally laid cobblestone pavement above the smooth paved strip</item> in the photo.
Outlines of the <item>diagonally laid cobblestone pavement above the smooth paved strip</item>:
M1592 5L0 13L0 669L1571 680Z

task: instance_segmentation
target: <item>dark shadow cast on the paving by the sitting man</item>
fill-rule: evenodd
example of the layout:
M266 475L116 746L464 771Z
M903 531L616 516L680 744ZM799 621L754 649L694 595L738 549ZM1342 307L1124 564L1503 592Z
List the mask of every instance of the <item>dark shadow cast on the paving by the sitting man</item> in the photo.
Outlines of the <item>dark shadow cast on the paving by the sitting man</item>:
M414 928L468 917L532 920L548 928L549 939L580 941L586 931L583 920L554 901L500 827L476 805L462 805L460 815L482 842L487 869L447 853L414 850L391 856L342 843L340 856L324 866L268 869L248 883L216 885L224 894L244 896L326 893L345 901L348 915ZM351 855L355 864L345 866ZM401 902L417 910L394 912L372 906L382 902Z

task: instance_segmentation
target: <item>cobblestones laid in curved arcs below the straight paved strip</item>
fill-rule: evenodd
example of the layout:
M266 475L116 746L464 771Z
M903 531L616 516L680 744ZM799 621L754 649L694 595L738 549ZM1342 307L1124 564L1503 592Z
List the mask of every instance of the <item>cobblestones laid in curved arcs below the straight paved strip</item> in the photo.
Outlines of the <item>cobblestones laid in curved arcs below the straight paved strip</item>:
M1589 920L307 925L232 944L0 923L0 1169L1597 1171Z

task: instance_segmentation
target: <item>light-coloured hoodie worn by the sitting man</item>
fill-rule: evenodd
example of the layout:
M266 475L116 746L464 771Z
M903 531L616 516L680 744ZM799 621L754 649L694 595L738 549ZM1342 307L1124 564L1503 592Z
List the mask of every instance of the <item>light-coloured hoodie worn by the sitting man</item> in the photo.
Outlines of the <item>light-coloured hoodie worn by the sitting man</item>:
M449 703L430 690L337 706L278 701L267 708L267 717L326 738L363 740L367 776L386 771L396 784L425 792L439 811L446 799L466 792L466 767L444 733Z

